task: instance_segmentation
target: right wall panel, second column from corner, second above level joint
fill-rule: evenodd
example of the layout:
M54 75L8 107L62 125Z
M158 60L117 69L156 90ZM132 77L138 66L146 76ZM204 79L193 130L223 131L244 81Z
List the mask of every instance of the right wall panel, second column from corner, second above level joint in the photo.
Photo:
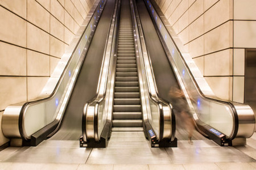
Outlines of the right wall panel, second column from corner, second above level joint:
M204 55L204 36L189 42L189 53L192 58Z

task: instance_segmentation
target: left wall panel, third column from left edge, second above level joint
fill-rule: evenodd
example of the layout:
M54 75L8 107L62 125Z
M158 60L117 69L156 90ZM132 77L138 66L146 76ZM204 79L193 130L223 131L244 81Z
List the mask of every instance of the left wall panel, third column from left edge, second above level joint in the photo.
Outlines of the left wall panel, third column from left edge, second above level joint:
M64 42L51 36L50 37L50 55L61 58L63 53L64 53Z

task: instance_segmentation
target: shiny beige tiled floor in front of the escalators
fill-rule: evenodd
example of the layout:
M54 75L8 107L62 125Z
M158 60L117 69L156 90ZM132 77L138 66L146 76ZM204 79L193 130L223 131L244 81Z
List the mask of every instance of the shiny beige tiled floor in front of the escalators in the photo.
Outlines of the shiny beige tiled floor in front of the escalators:
M113 132L108 148L79 141L44 141L0 152L0 169L256 169L256 133L246 146L220 147L204 139L177 148L151 148L142 131Z

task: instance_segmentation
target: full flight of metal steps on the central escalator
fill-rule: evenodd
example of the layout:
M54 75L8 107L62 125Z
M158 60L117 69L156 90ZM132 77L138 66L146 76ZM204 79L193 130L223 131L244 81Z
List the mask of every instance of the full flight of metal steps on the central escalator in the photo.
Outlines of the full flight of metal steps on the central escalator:
M113 129L142 129L141 95L129 1L122 1L115 70Z

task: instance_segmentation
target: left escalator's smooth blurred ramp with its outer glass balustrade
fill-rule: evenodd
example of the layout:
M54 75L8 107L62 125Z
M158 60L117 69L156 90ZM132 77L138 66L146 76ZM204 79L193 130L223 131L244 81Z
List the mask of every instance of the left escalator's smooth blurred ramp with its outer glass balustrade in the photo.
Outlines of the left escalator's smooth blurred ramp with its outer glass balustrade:
M11 139L11 145L37 146L47 138L55 141L79 140L82 109L97 92L115 4L114 0L94 3L88 14L89 19L85 20L86 29L81 30L84 33L72 56L62 58L68 62L49 97L6 108L2 129L5 136ZM63 60L59 63L61 67ZM61 70L61 67L58 69ZM55 73L53 79L56 79L54 76Z

